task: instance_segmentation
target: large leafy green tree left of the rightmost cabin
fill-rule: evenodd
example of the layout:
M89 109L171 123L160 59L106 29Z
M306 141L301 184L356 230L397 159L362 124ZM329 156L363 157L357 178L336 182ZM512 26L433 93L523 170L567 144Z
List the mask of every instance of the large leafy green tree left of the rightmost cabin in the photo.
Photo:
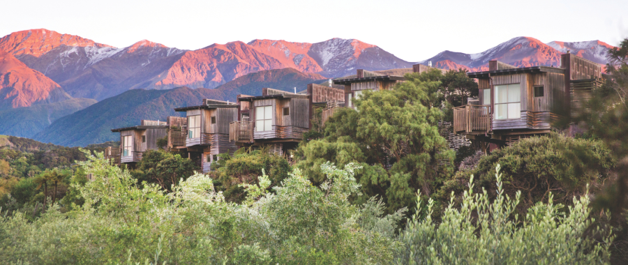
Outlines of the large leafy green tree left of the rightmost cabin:
M339 109L325 123L324 138L299 146L297 167L322 183L320 165L357 162L362 194L353 199L364 203L380 196L389 212L412 206L417 190L430 195L453 172L454 161L437 127L443 99L441 83L431 79L439 75L406 75L408 81L394 89L364 91L354 100L357 111Z

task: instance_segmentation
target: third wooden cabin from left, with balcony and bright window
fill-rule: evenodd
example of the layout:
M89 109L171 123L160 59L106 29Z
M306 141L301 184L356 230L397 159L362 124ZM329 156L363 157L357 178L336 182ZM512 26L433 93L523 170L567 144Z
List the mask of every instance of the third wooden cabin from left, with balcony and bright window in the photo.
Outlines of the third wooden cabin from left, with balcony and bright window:
M230 125L229 139L239 146L269 146L283 155L310 128L310 98L307 94L262 89L262 96L239 96L238 121Z

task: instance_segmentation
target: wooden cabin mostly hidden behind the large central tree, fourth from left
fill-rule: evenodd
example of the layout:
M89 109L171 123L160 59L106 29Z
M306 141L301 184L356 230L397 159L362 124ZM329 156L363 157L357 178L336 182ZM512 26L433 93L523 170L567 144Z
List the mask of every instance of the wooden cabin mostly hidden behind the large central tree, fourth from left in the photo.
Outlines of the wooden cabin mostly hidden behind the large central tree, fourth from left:
M406 73L423 73L430 70L431 66L415 64L412 68L400 68L391 70L368 71L357 69L355 75L341 77L333 80L334 84L345 86L345 107L355 108L352 102L354 98L360 98L365 90L379 91L392 89L397 83L405 81ZM445 71L445 70L441 70Z

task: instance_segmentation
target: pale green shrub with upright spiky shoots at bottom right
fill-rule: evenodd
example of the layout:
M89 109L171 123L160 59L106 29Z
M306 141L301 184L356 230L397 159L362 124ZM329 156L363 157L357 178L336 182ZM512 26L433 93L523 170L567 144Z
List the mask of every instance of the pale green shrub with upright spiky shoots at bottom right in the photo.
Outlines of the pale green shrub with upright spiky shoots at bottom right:
M440 224L432 219L430 199L425 215L417 213L401 233L403 251L396 264L605 264L610 259L610 229L600 229L590 216L589 197L573 197L567 209L539 202L521 219L516 207L521 192L509 197L502 188L500 165L495 173L494 200L474 193L473 177L459 206L453 198ZM420 198L419 198L420 209ZM422 217L425 216L425 217ZM601 218L607 218L604 213ZM592 234L595 238L583 238ZM597 242L596 240L597 239Z

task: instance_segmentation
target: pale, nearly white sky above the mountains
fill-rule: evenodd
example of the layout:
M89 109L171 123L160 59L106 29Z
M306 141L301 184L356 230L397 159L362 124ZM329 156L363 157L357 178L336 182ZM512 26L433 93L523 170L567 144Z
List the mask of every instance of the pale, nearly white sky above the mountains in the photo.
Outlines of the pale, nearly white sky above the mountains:
M611 45L628 38L628 0L2 0L1 6L0 36L44 28L115 47L143 39L196 50L256 38L355 38L422 61L443 50L482 52L517 36Z

